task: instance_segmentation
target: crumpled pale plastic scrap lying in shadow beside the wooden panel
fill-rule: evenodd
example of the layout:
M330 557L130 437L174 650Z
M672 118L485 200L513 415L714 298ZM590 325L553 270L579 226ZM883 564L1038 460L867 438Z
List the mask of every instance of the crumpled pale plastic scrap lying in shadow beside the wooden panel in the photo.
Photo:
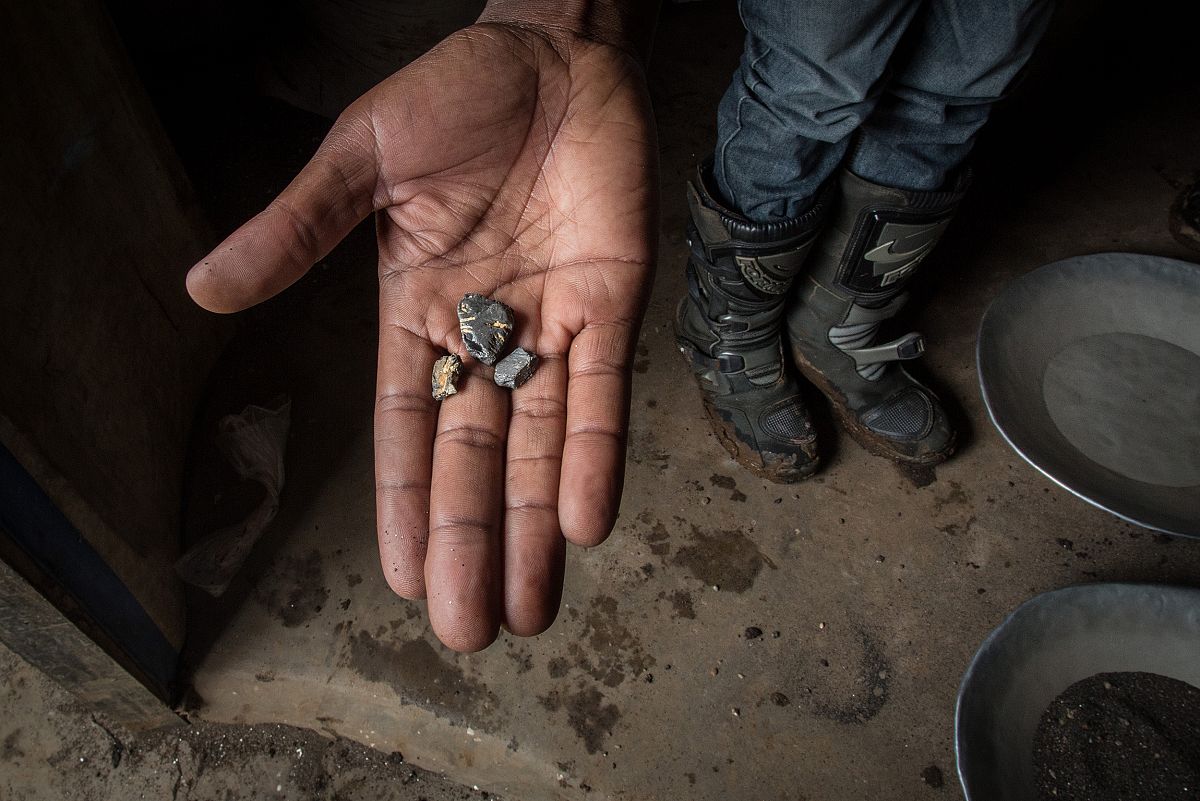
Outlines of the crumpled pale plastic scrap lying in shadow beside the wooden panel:
M218 423L217 447L239 476L258 482L266 494L245 520L216 531L179 558L175 572L188 584L220 597L275 519L283 490L283 452L290 424L292 401L286 397L274 409L248 405Z

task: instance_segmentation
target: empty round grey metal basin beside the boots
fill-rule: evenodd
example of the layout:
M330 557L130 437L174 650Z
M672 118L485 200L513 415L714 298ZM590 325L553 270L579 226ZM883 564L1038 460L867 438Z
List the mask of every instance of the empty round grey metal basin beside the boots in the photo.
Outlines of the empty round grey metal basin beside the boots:
M1200 266L1100 253L1014 281L979 327L1008 442L1130 523L1200 537Z

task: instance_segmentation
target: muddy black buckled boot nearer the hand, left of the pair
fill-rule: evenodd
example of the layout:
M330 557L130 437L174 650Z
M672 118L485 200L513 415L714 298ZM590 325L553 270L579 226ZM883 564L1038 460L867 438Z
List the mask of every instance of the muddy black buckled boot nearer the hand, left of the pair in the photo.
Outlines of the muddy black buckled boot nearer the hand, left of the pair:
M776 483L817 469L816 432L784 357L784 303L816 240L820 200L804 216L752 223L710 192L708 164L688 182L688 295L676 341L725 450Z

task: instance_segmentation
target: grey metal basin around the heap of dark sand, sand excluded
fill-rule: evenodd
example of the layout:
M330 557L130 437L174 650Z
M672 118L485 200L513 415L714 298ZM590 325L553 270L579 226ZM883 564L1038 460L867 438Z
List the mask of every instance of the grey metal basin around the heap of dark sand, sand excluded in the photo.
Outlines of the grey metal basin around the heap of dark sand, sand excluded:
M979 648L959 688L954 734L967 801L1038 797L1033 735L1067 687L1144 670L1200 687L1200 590L1090 584L1025 602Z

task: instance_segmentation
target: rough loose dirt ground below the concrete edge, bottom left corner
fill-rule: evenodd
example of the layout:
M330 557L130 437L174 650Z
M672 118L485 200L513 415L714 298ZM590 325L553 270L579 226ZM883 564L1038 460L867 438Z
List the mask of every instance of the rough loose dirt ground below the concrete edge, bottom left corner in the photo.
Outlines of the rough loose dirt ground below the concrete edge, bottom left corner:
M4 801L463 801L499 799L342 737L292 725L133 734L0 646Z

